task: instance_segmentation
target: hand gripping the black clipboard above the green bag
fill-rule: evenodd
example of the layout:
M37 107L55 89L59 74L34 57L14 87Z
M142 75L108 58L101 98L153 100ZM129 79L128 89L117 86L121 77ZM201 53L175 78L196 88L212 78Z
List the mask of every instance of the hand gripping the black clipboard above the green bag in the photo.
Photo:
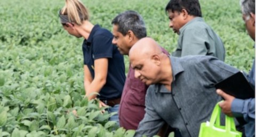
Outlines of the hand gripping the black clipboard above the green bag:
M217 94L220 95L222 98L225 100L219 103L219 106L222 109L222 112L225 113L226 115L232 117L233 114L231 112L231 104L235 97L228 95L227 93L223 92L220 89L216 90Z

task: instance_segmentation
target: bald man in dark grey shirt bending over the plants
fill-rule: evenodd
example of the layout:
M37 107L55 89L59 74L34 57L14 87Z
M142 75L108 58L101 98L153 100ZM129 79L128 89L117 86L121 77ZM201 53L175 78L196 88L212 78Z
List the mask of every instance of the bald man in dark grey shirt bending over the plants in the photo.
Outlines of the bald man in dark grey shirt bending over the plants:
M150 85L146 114L135 136L153 136L164 122L182 136L198 136L200 124L210 121L221 100L214 84L238 72L211 56L167 56L151 38L139 40L129 58L135 78Z

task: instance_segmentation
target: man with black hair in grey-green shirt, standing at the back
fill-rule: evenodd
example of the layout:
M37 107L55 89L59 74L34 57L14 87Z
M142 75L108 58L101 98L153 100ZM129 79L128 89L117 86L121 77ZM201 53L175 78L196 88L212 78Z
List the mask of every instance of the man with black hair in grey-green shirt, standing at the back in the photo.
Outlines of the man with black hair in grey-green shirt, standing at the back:
M198 0L171 0L165 7L178 46L172 56L210 55L225 60L225 48L220 37L207 25Z

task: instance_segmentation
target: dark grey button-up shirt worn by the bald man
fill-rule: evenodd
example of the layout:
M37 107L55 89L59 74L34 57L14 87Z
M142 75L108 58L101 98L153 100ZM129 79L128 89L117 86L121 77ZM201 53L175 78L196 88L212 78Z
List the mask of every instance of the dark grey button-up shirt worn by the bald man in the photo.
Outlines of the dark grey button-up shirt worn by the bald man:
M200 124L210 121L212 110L221 100L214 84L238 72L211 56L170 57L172 91L162 84L150 85L146 114L135 136L155 135L164 122L180 130L182 136L198 136Z

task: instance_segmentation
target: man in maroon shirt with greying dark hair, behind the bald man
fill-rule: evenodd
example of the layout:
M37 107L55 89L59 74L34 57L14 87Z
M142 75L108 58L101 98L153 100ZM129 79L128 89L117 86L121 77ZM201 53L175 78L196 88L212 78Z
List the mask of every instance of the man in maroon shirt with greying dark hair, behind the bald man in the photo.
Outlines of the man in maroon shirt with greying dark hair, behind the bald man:
M113 24L114 36L112 43L123 55L128 55L132 46L147 36L145 22L142 16L135 11L119 13L111 24ZM166 55L169 55L165 49L161 49ZM129 66L118 113L120 126L124 129L136 130L138 128L145 115L147 89L148 85L136 79L134 70ZM158 133L158 135L162 134L164 134L164 129Z

